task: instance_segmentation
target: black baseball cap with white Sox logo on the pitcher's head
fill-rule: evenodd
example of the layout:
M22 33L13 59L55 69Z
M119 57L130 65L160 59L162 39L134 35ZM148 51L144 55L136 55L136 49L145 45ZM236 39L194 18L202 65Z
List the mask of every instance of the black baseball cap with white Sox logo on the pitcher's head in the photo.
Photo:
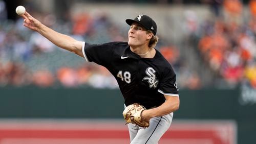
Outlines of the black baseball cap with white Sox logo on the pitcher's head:
M138 15L134 19L126 19L125 20L128 25L132 25L133 22L138 22L142 25L146 30L152 31L154 35L157 33L157 24L156 22L147 15Z

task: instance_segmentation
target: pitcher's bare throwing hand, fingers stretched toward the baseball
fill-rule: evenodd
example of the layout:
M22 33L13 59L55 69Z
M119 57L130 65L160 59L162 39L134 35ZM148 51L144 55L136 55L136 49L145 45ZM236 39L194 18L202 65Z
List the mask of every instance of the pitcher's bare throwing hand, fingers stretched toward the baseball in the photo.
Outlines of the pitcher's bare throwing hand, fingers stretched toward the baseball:
M22 17L24 18L24 23L23 25L31 30L34 31L39 31L40 27L42 26L42 23L35 19L34 17L32 17L28 12L25 12Z

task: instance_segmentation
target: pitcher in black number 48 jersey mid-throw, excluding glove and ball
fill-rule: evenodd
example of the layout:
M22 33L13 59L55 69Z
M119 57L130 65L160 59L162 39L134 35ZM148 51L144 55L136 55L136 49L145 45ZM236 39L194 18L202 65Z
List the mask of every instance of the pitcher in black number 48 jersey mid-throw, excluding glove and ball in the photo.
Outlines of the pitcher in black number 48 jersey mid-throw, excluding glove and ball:
M40 33L55 45L86 61L106 67L116 78L124 98L124 107L138 103L146 108L141 114L150 126L140 129L128 124L131 143L158 143L179 108L176 74L159 51L156 22L146 15L126 19L130 25L128 42L91 44L60 34L33 18L22 15L24 26Z

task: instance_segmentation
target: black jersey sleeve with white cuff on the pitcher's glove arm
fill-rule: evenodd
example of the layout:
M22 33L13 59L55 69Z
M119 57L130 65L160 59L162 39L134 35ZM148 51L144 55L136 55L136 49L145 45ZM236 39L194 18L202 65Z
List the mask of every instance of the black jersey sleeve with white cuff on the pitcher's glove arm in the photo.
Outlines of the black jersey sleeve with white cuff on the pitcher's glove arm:
M176 83L176 74L174 70L168 68L164 73L158 92L169 96L179 97L179 89Z

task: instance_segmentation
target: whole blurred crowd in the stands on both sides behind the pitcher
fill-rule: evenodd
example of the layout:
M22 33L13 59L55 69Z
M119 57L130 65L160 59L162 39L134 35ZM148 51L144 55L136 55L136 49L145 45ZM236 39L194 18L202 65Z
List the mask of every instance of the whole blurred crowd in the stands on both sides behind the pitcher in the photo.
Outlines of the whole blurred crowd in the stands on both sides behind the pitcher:
M195 15L187 15L186 33L198 39L193 41L196 50L215 77L230 85L245 82L256 88L256 0L249 3L248 20L243 19L243 5L239 0L214 2L210 3L214 18L199 23ZM104 12L81 13L66 20L59 20L53 14L31 14L48 27L80 41L127 41L129 27L117 26ZM118 88L104 67L69 58L72 54L68 51L58 49L22 23L22 18L14 21L0 17L0 86ZM173 65L179 87L203 87L202 78L181 57L183 47L159 37L156 49Z

